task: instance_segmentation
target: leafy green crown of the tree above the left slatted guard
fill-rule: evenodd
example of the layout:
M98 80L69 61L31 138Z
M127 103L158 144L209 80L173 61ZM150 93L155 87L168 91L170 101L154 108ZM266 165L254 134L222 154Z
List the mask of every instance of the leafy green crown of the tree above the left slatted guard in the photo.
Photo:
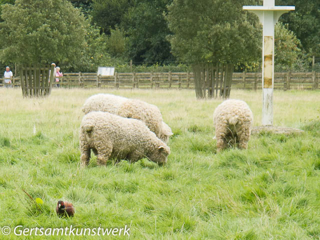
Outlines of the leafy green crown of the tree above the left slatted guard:
M1 17L2 61L72 66L80 57L85 19L67 0L16 0L3 5Z

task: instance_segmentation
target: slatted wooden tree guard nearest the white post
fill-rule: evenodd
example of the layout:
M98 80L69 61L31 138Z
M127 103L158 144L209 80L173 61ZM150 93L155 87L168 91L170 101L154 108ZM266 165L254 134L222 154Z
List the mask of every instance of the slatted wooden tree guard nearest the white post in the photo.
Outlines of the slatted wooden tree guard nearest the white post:
M233 64L194 63L192 69L196 98L229 97Z

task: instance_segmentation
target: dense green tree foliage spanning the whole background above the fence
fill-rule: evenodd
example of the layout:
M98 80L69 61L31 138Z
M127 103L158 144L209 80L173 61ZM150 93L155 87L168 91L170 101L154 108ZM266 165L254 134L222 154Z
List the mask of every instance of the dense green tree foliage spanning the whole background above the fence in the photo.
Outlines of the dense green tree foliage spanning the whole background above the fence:
M55 61L79 71L94 71L101 64L126 69L130 59L140 65L136 69L219 60L236 63L237 70L258 70L262 28L242 6L262 3L0 0L0 60ZM320 1L275 0L275 4L295 5L275 28L276 70L307 70L311 56L320 56Z

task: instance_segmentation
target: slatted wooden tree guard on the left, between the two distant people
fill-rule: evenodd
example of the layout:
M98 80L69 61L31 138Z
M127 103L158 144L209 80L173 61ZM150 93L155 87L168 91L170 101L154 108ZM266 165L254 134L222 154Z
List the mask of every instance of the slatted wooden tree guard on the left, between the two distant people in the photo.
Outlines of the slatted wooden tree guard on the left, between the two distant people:
M20 66L23 96L47 96L51 93L54 65L47 67Z

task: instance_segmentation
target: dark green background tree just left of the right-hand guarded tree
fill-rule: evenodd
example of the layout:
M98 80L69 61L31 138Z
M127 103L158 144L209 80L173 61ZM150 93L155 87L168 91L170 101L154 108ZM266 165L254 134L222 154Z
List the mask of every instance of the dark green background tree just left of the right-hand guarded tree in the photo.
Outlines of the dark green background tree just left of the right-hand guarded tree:
M135 62L173 61L165 14L172 0L135 0L123 16L121 26L127 35L127 55Z

